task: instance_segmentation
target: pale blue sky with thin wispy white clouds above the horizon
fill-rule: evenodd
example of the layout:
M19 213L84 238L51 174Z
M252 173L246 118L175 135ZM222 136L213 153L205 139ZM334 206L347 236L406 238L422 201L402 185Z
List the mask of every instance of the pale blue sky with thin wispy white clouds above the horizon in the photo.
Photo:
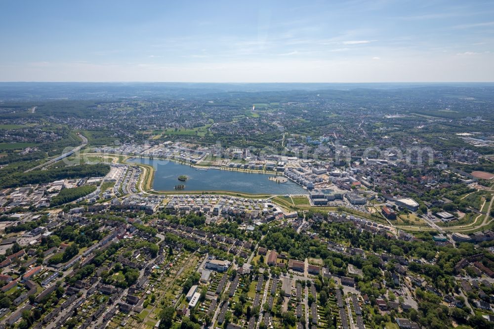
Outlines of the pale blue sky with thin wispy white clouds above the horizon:
M494 1L1 1L0 81L494 81Z

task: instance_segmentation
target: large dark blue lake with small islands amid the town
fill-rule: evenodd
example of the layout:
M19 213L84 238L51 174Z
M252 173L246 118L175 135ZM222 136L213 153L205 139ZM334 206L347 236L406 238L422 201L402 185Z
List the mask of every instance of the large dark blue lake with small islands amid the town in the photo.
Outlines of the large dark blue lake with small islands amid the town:
M197 170L186 164L173 161L132 158L127 162L149 164L155 168L153 189L156 191L174 191L175 185L184 184L183 191L231 191L251 194L308 194L300 185L288 181L276 183L268 178L272 175L246 173L241 171L207 169ZM187 175L186 182L178 176Z

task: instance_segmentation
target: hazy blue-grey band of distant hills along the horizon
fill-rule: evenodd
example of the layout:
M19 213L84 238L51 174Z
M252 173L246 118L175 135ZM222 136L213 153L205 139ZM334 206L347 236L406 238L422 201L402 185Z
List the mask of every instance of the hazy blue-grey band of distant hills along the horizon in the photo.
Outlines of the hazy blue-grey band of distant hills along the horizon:
M494 87L494 82L396 83L199 83L199 82L0 82L0 100L180 98L225 92L290 90Z

